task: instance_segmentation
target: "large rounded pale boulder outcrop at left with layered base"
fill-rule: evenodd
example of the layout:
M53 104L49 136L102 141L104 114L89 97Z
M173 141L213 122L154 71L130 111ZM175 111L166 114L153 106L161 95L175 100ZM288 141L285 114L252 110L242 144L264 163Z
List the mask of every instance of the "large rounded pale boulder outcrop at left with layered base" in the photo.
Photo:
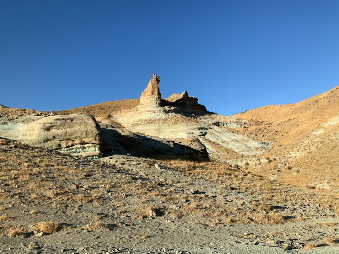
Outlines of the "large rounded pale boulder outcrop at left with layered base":
M0 136L70 155L100 158L100 126L91 115L44 117L29 124L3 123Z

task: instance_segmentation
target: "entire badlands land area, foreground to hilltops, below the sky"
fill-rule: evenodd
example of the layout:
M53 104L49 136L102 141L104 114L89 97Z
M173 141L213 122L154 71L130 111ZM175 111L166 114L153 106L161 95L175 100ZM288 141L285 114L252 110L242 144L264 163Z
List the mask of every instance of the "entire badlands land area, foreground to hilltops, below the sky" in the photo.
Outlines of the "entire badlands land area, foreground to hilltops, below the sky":
M0 107L0 252L339 253L339 87L222 116L159 82Z

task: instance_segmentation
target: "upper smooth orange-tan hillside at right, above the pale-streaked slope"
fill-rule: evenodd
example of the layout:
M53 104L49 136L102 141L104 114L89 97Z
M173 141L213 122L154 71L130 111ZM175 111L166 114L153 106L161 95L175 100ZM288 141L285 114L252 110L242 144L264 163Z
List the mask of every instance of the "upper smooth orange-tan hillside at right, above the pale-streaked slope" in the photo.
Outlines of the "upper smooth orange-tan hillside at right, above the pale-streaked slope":
M296 104L268 105L233 115L248 120L245 135L278 145L294 142L339 112L339 87Z

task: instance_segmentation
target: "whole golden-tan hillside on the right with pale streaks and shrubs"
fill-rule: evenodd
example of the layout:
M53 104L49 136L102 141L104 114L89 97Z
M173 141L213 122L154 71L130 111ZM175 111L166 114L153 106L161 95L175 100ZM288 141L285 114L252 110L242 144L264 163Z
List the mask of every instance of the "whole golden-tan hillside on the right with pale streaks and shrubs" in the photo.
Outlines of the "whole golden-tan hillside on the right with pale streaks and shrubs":
M339 87L296 104L270 105L235 116L243 134L274 141L246 170L283 183L339 191Z

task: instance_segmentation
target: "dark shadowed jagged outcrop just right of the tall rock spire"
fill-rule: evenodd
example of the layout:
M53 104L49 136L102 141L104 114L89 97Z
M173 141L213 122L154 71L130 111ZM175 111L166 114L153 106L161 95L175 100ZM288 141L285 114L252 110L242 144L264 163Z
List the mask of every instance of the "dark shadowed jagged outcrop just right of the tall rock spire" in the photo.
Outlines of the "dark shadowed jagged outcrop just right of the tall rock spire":
M162 100L163 106L179 108L185 114L205 114L207 109L198 103L196 97L188 96L187 91L179 94L172 94L167 99Z

